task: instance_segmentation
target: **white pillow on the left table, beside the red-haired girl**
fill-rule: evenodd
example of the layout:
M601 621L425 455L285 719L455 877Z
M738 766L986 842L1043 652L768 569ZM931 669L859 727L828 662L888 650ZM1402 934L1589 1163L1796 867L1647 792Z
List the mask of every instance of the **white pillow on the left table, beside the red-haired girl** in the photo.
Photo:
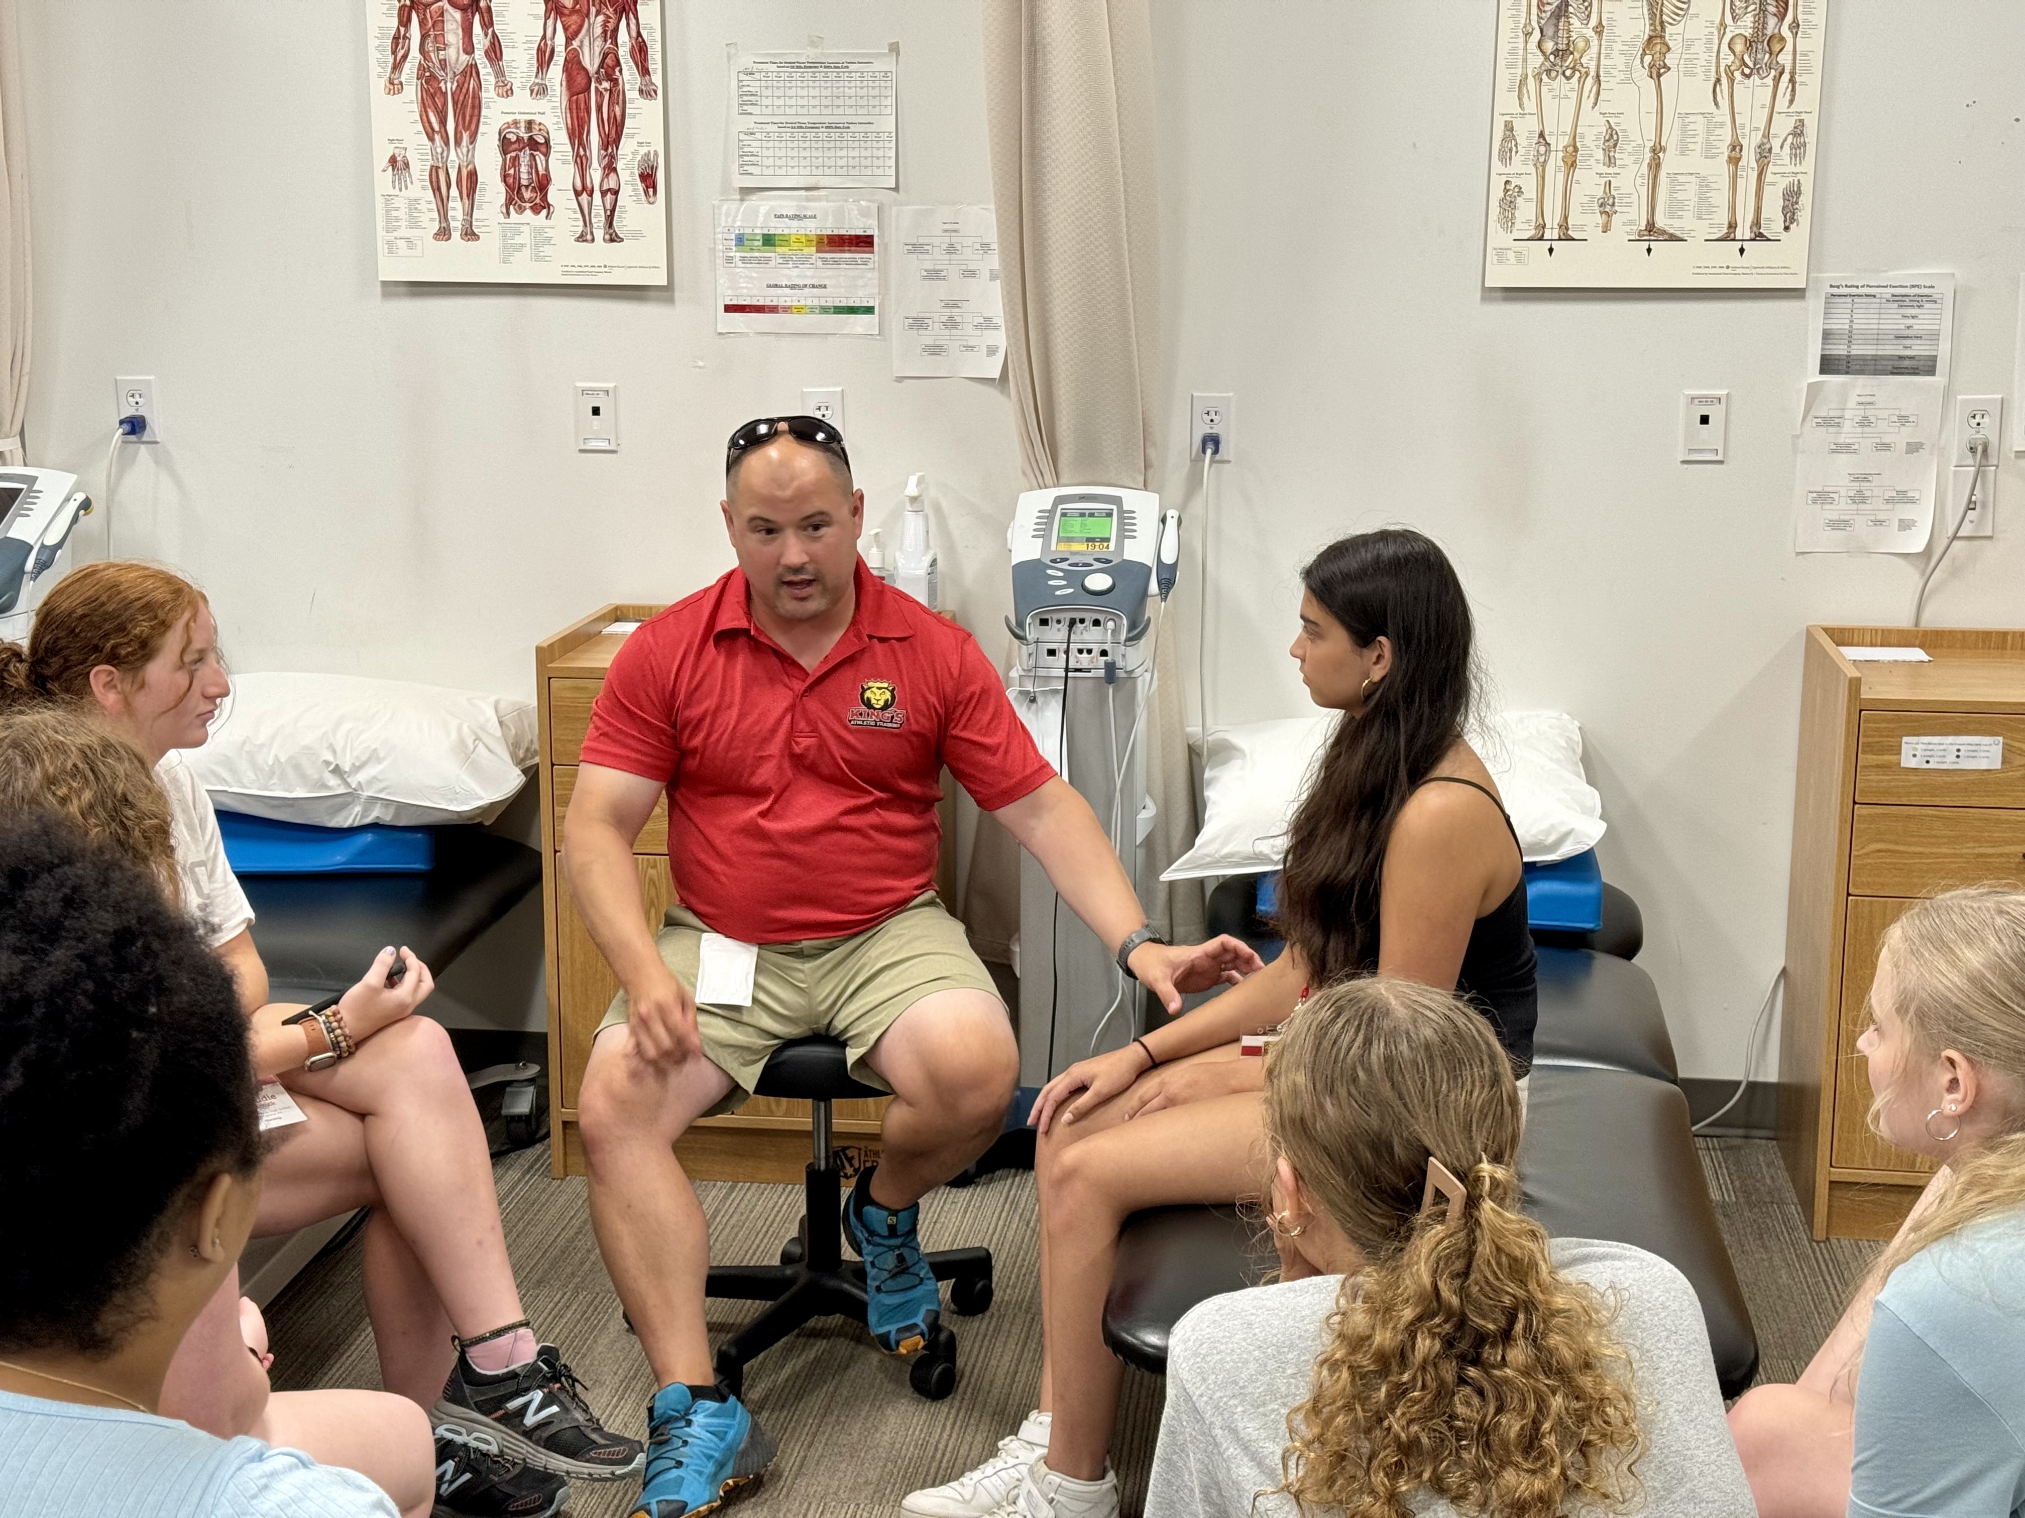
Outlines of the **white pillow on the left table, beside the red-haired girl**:
M529 700L352 674L241 674L188 761L223 812L421 828L496 818L535 749Z

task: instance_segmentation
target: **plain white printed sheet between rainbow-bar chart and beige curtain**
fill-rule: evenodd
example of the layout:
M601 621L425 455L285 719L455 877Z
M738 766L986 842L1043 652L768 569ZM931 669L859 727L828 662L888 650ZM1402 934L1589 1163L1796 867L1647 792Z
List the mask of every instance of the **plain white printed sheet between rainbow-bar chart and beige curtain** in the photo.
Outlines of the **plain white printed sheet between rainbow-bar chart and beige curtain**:
M1006 362L998 215L990 206L899 206L893 223L893 376L998 378Z

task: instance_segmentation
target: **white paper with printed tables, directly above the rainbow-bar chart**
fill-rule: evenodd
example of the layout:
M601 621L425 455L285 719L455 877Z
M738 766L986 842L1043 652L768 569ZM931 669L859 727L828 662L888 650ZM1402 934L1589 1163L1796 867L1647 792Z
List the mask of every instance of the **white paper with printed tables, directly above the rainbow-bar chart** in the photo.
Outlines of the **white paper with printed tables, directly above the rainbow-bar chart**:
M741 190L899 186L899 53L731 55Z

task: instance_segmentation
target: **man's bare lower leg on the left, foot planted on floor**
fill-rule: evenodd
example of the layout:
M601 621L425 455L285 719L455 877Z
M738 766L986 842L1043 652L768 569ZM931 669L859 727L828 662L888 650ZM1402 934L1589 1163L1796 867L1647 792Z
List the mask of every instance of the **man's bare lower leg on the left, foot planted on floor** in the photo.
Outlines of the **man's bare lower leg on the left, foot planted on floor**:
M656 1386L703 1386L717 1374L703 1324L709 1225L670 1146L731 1085L701 1057L648 1065L630 1028L599 1034L583 1071L577 1131L591 1172L591 1229Z

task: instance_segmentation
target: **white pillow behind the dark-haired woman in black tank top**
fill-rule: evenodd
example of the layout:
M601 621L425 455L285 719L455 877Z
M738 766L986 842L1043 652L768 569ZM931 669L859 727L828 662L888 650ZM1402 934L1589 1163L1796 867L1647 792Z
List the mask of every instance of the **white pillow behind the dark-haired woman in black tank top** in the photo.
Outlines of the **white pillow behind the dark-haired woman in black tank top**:
M1162 880L1278 870L1286 828L1336 714L1219 727L1201 741L1203 826ZM1472 745L1505 795L1531 864L1571 858L1604 836L1604 802L1582 775L1582 727L1567 712L1492 716Z

